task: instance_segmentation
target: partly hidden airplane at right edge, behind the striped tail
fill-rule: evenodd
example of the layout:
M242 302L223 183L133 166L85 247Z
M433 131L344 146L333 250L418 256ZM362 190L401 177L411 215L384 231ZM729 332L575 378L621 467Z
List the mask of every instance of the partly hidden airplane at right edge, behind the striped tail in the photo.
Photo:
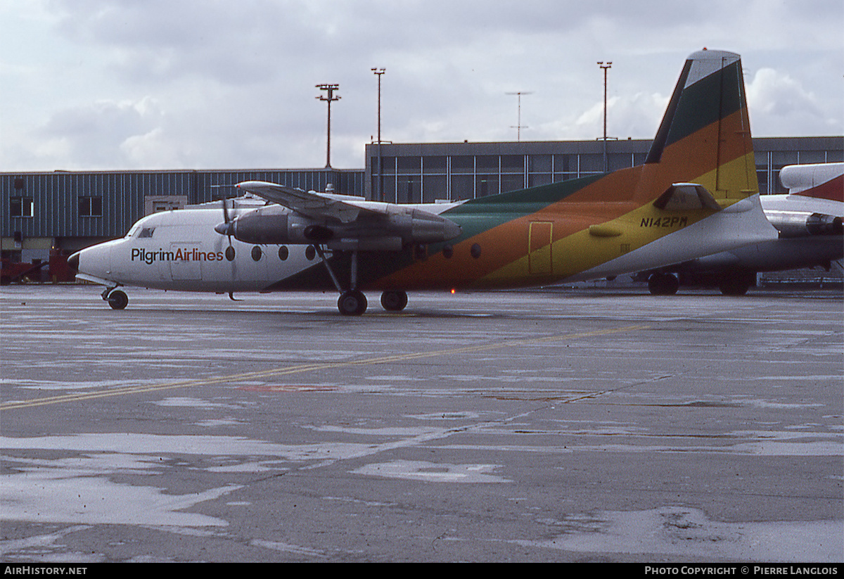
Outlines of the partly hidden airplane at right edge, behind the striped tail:
M844 163L788 165L780 181L785 195L762 195L767 219L777 238L727 252L696 257L642 273L653 295L672 295L679 279L690 284L717 285L724 295L744 295L756 283L756 273L820 266L844 258Z

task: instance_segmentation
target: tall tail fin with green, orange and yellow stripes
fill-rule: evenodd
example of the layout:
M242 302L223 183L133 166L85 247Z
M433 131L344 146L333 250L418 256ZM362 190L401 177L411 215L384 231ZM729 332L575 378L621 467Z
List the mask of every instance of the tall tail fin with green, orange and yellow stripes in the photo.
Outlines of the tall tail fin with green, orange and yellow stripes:
M646 165L657 182L693 181L717 199L759 192L738 54L690 55Z

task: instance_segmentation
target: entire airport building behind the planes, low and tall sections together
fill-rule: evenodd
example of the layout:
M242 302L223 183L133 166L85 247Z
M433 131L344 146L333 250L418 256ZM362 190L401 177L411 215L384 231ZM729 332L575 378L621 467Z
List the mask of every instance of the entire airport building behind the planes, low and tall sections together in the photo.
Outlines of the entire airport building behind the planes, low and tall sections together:
M650 140L370 143L363 169L0 173L3 262L41 262L120 237L143 215L232 197L239 181L360 195L391 203L462 200L644 162ZM783 166L844 161L844 138L755 138L760 192L785 192Z

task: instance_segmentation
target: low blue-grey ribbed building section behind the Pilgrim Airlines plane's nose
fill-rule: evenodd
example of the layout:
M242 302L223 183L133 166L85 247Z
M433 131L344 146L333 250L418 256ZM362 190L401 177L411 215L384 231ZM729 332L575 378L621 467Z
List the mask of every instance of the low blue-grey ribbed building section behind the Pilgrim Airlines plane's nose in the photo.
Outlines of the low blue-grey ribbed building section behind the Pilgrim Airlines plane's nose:
M0 173L0 249L13 262L45 260L124 235L146 214L234 197L235 183L364 194L362 170L160 170Z

